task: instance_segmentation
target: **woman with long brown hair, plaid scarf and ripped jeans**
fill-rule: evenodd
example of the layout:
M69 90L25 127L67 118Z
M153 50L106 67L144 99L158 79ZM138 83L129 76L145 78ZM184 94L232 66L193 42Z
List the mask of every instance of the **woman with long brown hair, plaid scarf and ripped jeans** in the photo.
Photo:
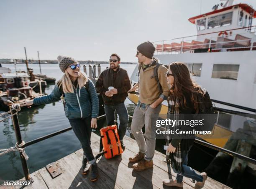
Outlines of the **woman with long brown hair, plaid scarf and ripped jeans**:
M183 62L172 62L169 65L166 77L168 84L171 85L167 118L175 120L183 116L183 119L192 119L192 114L199 112L200 96L204 95L201 87L191 80L189 70ZM182 180L185 176L196 181L195 188L202 188L207 179L207 174L205 172L198 174L194 169L187 166L188 153L195 139L188 137L171 138L170 135L166 137L167 153L177 177L176 179L164 179L163 184L183 187Z

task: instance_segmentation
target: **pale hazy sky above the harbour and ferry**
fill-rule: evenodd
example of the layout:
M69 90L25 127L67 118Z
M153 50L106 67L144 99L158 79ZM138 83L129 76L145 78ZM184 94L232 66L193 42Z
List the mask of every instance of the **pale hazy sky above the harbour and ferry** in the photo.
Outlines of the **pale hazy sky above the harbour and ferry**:
M196 35L189 17L220 0L1 0L0 58L137 62L144 41ZM256 0L234 0L256 8ZM201 5L201 6L200 6ZM200 8L201 7L201 8ZM255 23L254 19L254 23Z

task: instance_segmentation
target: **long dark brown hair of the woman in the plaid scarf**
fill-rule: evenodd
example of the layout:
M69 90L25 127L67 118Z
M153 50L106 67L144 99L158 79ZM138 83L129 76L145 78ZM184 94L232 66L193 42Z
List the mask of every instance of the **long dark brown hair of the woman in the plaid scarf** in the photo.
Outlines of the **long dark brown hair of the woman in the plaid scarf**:
M180 99L182 108L187 107L187 99L184 93L188 94L194 109L198 112L199 98L200 95L204 94L201 87L191 79L187 66L183 62L172 62L169 69L174 77L174 83L170 90L171 94Z

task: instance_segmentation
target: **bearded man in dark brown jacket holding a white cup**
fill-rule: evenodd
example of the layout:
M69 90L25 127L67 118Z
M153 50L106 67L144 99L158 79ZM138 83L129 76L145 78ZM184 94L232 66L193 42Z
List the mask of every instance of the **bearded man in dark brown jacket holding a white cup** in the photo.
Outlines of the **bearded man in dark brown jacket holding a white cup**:
M124 150L123 137L129 121L124 101L128 96L128 90L131 89L131 82L127 71L120 68L120 57L117 54L112 54L109 62L110 68L100 74L95 87L104 101L107 124L114 124L115 112L119 116L118 134Z

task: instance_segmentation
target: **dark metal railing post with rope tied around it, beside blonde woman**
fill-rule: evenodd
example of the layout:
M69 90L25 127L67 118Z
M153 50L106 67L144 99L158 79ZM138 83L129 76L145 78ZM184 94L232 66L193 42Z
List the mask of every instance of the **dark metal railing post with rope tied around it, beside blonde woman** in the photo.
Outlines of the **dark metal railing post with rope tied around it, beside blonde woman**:
M11 106L10 106L10 110L12 110ZM20 125L19 125L18 115L15 114L15 112L16 112L16 110L13 109L11 111L11 115L13 115L12 119L13 119L13 127L15 129L16 140L17 140L18 145L20 145L22 143L22 137L21 137L21 133L20 133ZM26 161L25 157L23 156L22 152L20 152L20 160L22 163L22 168L23 168L23 172L24 172L26 180L31 180L29 171L28 171L27 161Z

